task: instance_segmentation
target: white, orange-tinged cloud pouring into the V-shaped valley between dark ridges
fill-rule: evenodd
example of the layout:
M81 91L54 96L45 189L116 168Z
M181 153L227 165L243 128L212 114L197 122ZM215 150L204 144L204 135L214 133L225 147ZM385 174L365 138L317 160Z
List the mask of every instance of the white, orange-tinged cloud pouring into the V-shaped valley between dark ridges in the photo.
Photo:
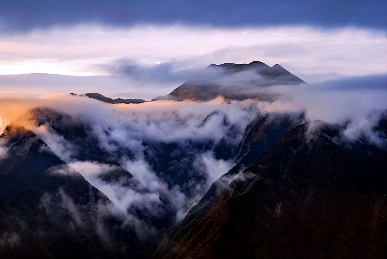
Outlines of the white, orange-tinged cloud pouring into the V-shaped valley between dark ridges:
M179 164L183 159L190 160L191 162L188 163L192 168L187 172L187 181L171 184L170 176L155 171L152 162L147 160L143 143L184 145L188 141L195 144L212 140L213 143L217 143L221 138L226 138L229 143L236 146L243 137L246 126L258 112L251 100L228 102L221 97L209 102L155 101L133 105L111 105L68 94L46 95L39 99L24 100L27 103L25 106L20 105L23 103L22 99L15 98L3 99L2 105L17 106L24 112L36 106L53 108L58 112L70 114L74 122L82 122L90 129L88 135L96 139L99 148L115 157L116 161L134 176L134 180L143 186L136 189L137 187L132 186L138 185L128 186L122 182L124 180L116 182L101 180L99 175L115 170L116 166L96 161L77 160L79 157L77 144L55 132L49 124L36 126L34 121L31 121L33 120L31 116L23 116L17 122L45 141L55 154L108 196L120 210L127 211L134 206L141 210L149 210L157 216L165 213L166 208L163 206L170 206L175 212L176 220L181 220L185 216L212 182L228 172L232 161L217 160L212 150L207 150L205 153L200 150L187 152L189 150L184 148L182 152L187 152L187 156L176 155L176 158L173 158L176 161L171 161L175 164L171 166ZM11 116L7 112L11 110L0 111L1 117ZM17 114L20 113L22 111L17 111ZM71 122L69 121L68 124L70 126ZM228 133L231 128L235 133L233 135ZM187 146L187 148L192 147ZM71 170L60 170L60 168L55 170L58 174L72 173ZM199 177L200 180L195 177Z

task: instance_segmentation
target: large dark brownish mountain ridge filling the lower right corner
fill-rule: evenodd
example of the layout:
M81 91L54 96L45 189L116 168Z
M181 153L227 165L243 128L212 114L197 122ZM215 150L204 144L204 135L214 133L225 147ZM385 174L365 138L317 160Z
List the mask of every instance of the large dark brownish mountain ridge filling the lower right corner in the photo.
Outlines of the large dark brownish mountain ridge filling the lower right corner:
M281 137L154 258L385 258L386 150L337 145L327 124L308 140L307 128Z

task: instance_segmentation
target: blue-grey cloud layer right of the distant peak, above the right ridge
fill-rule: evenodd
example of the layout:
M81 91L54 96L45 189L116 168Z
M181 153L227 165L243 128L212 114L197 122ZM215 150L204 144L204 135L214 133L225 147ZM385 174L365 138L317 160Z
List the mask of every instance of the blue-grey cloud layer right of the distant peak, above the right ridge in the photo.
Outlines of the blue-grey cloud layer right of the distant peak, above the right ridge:
M260 102L267 112L305 111L307 119L343 123L368 116L370 111L387 107L386 75L350 77L315 84L272 86L271 93L282 96L275 102Z

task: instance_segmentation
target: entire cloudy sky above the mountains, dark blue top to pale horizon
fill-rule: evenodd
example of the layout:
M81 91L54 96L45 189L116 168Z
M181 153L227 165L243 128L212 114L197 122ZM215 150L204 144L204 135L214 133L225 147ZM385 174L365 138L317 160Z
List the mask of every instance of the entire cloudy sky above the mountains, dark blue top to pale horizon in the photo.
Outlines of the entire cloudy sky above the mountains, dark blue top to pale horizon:
M386 9L387 1L0 1L0 94L152 99L211 63L254 60L312 83L385 74ZM31 73L41 75L20 75Z

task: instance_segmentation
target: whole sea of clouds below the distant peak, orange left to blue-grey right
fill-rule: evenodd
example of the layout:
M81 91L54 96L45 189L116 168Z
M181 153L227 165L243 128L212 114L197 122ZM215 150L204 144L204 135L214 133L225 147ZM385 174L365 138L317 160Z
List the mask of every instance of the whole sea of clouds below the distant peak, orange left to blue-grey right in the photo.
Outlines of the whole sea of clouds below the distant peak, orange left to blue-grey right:
M386 148L385 136L375 130L380 119L386 118L385 85L386 75L374 75L319 84L257 88L258 94L277 94L274 101L265 102L250 99L230 101L219 96L206 102L160 100L142 104L107 104L68 94L34 99L13 97L1 100L0 115L2 128L11 123L33 131L58 157L104 193L114 204L114 209L110 207L107 211L115 214L120 211L118 214L125 215L136 208L154 218L172 212L175 224L184 218L214 181L235 165L232 158L216 158L216 143L223 139L228 147L237 147L248 125L262 114L303 113L305 121L323 120L344 126L341 141L356 141L362 137L372 145ZM67 114L71 118L69 123L84 125L98 148L115 157L118 165L77 157L78 144L53 130L49 121L40 125L34 121L28 111L35 107ZM5 155L5 140L0 140L0 150ZM202 148L206 143L212 144ZM176 159L166 165L169 171L155 166L163 162L157 157L161 150L158 147L163 145L174 147L165 151L171 152L169 159ZM133 177L104 181L101 176L117 167L126 169ZM166 175L174 169L187 174L185 182ZM68 172L58 169L51 173ZM131 219L138 221L133 215Z

